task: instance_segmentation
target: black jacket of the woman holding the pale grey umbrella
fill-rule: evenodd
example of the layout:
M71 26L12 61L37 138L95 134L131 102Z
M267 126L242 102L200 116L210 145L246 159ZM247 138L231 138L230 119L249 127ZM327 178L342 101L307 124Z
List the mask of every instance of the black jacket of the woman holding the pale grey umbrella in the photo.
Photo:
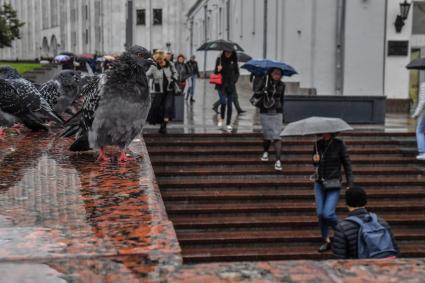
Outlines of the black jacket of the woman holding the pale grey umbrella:
M329 141L323 139L317 141L317 150L320 155L318 166L319 180L341 179L341 165L344 167L347 185L353 185L353 172L351 170L351 160L347 147L340 139L332 138ZM313 155L316 154L316 145L313 148Z

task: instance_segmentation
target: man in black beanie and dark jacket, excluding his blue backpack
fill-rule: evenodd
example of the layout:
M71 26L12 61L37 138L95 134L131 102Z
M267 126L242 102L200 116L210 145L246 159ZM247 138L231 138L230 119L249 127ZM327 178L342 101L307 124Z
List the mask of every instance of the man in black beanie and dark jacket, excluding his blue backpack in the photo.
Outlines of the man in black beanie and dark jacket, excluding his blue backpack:
M365 206L367 204L366 192L360 187L352 187L345 192L345 202L347 204L348 216L365 219L369 215ZM378 222L388 229L393 245L398 253L399 249L391 232L390 226L382 219ZM332 243L332 251L338 259L357 259L358 257L358 237L360 226L353 221L343 220L336 226L335 237ZM379 258L394 256L393 253L383 253Z

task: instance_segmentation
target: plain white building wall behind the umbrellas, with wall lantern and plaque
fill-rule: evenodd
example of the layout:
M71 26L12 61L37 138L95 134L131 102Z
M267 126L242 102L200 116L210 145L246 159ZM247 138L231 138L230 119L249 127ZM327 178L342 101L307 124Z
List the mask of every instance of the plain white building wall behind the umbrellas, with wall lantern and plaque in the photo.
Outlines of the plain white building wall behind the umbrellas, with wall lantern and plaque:
M412 12L401 32L395 30L400 2L199 0L188 13L190 50L195 52L205 40L229 39L252 57L295 67L299 75L285 80L300 89L407 99L409 72L404 67L410 48L388 55L389 42L412 37ZM200 67L211 70L216 56L198 52Z

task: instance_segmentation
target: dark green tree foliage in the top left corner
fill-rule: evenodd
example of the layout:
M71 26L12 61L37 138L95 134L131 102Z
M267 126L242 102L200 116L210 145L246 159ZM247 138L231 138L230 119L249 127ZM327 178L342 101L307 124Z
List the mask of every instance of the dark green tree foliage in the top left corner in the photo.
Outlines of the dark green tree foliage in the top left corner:
M19 29L23 25L12 5L5 3L0 7L0 48L11 47L15 39L20 39Z

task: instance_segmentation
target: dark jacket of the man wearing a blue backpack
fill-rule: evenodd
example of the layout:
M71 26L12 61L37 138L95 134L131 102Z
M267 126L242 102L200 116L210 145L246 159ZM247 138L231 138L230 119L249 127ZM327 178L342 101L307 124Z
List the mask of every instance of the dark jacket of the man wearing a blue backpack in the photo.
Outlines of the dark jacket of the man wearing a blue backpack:
M364 218L367 215L368 211L365 208L357 209L353 212L350 212L348 216L358 216ZM397 243L395 241L394 235L391 232L391 228L387 222L378 218L378 222L387 228L391 233L391 238L393 240L394 246L399 251ZM336 226L335 236L332 242L332 251L338 259L357 259L357 240L359 233L359 225L348 220L343 220L339 222ZM385 258L391 256L391 254L382 254L381 257Z

